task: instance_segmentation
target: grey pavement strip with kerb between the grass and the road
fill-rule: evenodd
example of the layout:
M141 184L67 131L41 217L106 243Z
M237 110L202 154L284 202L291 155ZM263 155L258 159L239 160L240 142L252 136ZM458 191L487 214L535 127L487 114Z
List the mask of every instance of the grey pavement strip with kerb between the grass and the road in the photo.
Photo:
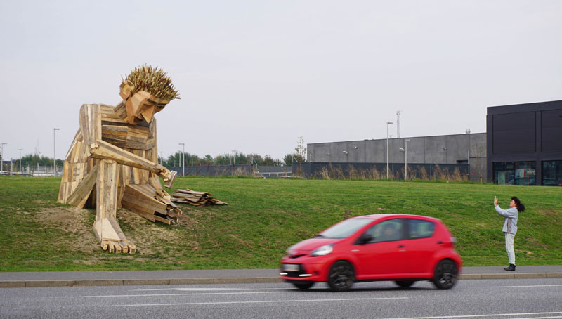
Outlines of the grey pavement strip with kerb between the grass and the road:
M460 280L478 279L528 279L562 278L562 273L467 273ZM133 286L133 285L205 285L248 284L283 282L277 277L256 278L174 278L174 279L124 279L124 280L0 280L0 288L24 287L74 287L74 286Z

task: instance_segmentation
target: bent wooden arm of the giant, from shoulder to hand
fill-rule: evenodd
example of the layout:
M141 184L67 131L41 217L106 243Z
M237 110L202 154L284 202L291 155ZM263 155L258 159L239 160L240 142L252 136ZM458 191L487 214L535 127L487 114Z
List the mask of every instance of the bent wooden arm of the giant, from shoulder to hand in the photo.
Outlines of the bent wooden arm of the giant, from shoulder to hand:
M170 179L170 171L160 164L150 162L138 155L102 140L101 112L99 105L84 104L80 108L80 130L89 157L97 159L113 159L119 164L138 169L146 169L162 176L164 181Z

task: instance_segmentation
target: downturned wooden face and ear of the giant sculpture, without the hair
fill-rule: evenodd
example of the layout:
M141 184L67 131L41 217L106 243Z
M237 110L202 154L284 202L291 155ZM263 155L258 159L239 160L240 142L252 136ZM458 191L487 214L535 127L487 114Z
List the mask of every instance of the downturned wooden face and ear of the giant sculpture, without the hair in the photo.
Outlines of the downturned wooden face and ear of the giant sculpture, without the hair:
M130 83L130 82L129 82ZM131 86L126 82L121 85L119 95L125 102L127 116L126 122L136 125L143 119L150 123L157 112L164 110L169 101L155 98L146 91L138 91L131 96Z

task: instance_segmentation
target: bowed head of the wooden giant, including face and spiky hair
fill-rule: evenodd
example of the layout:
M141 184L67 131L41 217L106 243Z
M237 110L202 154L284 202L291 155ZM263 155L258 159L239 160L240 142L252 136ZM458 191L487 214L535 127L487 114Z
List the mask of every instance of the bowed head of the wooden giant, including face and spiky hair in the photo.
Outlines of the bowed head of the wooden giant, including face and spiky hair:
M178 91L168 75L158 67L143 65L136 67L119 86L119 95L126 106L126 122L138 124L143 119L150 123L155 113L164 110Z

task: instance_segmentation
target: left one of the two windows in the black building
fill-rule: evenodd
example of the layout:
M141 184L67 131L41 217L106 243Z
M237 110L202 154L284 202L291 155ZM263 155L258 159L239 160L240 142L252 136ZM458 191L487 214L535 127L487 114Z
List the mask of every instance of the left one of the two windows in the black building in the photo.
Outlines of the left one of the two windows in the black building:
M495 162L494 183L499 185L535 185L535 162Z

